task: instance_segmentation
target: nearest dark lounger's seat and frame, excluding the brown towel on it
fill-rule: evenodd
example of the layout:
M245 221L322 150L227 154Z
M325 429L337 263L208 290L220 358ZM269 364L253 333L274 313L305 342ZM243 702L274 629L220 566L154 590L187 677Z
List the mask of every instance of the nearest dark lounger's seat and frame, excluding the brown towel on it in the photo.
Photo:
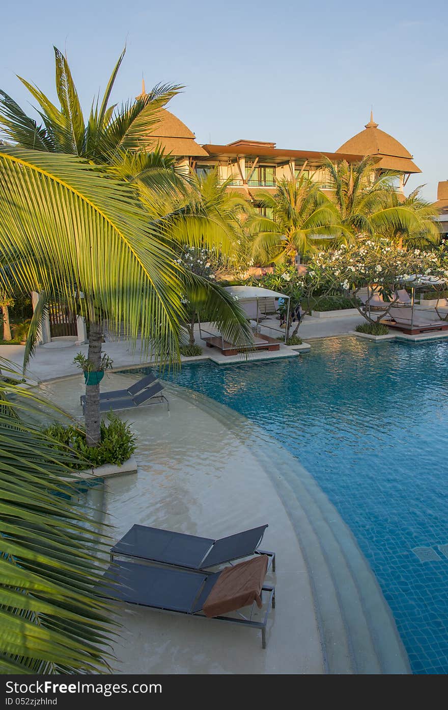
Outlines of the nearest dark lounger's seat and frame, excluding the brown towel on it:
M114 562L104 574L104 584L96 591L108 599L118 599L128 604L147 606L159 611L181 613L187 616L206 618L203 605L221 572L192 572L189 569L154 567L137 562ZM252 621L241 614L213 616L218 621L239 623L242 626L261 629L262 648L266 648L266 625L269 609L275 607L275 587L263 584L262 592L268 593L264 600L266 611L260 621Z

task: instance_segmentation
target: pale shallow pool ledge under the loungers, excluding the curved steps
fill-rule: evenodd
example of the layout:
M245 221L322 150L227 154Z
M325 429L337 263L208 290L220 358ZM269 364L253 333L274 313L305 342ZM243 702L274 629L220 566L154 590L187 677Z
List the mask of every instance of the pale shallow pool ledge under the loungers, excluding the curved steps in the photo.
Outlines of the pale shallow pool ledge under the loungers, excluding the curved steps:
M114 375L113 388L130 376ZM45 396L79 415L82 378L46 383ZM277 554L276 608L267 649L260 632L213 620L123 606L114 670L121 673L324 672L308 569L293 525L259 461L192 397L169 387L169 413L125 413L138 435L138 474L105 483L106 522L121 537L134 523L221 537L269 523L263 547Z

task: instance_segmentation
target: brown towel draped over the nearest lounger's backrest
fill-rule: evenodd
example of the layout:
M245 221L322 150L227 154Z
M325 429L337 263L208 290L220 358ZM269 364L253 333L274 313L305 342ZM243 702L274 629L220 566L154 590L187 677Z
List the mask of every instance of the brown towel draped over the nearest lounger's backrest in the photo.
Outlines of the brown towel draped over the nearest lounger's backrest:
M223 569L203 605L205 615L221 616L228 611L249 606L254 601L262 608L260 593L266 577L267 563L267 555L257 555L247 562L239 562L234 567Z

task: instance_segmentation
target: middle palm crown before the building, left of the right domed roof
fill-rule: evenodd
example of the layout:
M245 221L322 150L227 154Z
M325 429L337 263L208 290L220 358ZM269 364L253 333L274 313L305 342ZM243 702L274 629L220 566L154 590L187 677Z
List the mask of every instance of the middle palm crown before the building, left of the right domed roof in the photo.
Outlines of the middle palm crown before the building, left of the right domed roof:
M332 238L335 208L310 178L279 180L273 195L263 192L255 199L272 214L250 221L256 261L294 263L298 254L303 256L319 241Z

